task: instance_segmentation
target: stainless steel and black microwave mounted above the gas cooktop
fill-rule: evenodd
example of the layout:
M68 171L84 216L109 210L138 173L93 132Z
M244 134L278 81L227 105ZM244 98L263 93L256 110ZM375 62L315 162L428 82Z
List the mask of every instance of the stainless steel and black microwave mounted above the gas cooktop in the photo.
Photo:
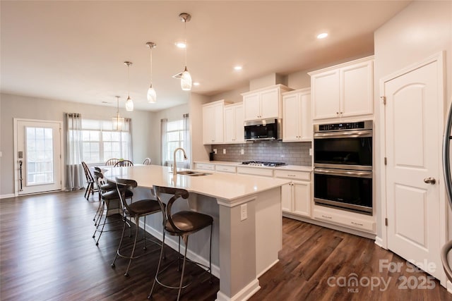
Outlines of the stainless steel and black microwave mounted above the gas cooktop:
M280 140L283 137L282 124L281 119L245 121L245 140Z

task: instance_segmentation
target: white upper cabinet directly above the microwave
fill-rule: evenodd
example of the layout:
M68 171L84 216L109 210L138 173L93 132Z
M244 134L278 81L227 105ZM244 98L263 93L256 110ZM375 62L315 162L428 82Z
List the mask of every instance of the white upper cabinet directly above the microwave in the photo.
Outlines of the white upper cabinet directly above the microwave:
M291 90L285 85L273 85L242 93L244 121L282 118L282 93Z

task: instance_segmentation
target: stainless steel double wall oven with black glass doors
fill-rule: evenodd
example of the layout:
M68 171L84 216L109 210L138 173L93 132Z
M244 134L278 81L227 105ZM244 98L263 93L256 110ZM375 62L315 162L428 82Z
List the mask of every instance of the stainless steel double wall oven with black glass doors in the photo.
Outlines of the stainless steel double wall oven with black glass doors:
M314 202L372 214L372 121L314 125Z

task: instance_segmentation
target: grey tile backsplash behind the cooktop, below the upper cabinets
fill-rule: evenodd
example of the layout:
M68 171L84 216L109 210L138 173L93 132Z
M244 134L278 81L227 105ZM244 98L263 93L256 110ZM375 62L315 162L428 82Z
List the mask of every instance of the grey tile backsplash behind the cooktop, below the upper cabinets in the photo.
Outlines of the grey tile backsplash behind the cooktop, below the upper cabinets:
M311 142L255 141L237 145L212 145L210 148L211 152L217 149L217 154L213 155L216 161L274 161L288 165L312 165L312 157L309 155ZM223 149L226 154L223 154Z

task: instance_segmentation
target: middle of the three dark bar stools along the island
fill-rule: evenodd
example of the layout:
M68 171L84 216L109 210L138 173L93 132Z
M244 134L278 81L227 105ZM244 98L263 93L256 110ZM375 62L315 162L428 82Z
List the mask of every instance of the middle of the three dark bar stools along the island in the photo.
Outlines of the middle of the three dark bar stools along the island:
M129 259L129 265L127 266L126 273L124 274L124 276L129 276L129 269L130 269L132 259L136 259L141 256L141 255L134 256L135 248L136 248L136 240L138 238L138 228L140 228L139 227L140 218L141 218L141 216L144 216L144 224L146 224L146 216L148 216L150 214L155 214L157 212L161 212L162 209L160 209L160 204L155 199L140 199L133 203L127 204L126 193L130 189L136 188L136 186L137 186L136 180L128 180L128 179L121 179L121 178L117 178L116 180L117 180L116 181L117 193L119 195L119 200L121 201L122 211L124 212L124 221L127 218L130 218L130 219L133 218L135 220L136 231L135 231L135 239L133 240L132 252L131 252L130 256L121 254L121 247L124 247L124 246L122 246L122 242L124 240L124 231L126 229L126 223L124 223L124 226L122 227L121 240L119 241L118 249L117 249L116 254L114 255L114 259L112 262L112 268L114 268L114 263L116 262L116 259L118 256ZM110 183L109 180L107 182ZM144 240L143 250L146 250L147 249L146 248L146 231L144 231L144 230L143 230L143 240ZM155 243L159 246L161 245L159 242L155 242Z

